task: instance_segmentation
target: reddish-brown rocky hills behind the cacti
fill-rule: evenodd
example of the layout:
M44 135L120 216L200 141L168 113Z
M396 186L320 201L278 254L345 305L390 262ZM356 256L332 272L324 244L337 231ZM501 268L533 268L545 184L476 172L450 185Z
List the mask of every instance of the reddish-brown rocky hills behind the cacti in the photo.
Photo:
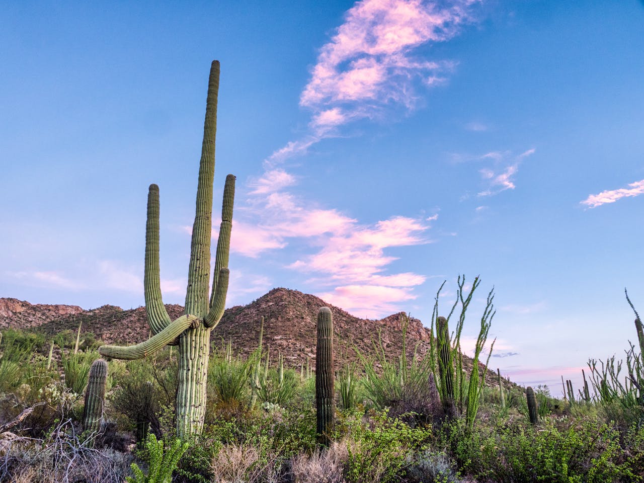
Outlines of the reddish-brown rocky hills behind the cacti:
M248 305L228 308L213 330L213 345L231 341L234 351L249 354L257 347L263 316L263 343L271 354L281 353L287 365L298 368L307 359L313 363L316 348L316 316L320 307L333 312L336 360L340 364L359 361L358 352L373 355L374 343L382 341L389 360L397 361L403 348L403 325L407 325L406 350L423 355L429 350L430 331L418 319L392 314L384 319L354 317L341 308L298 290L273 289ZM171 318L183 313L180 305L166 305ZM92 332L105 343L133 344L149 334L144 307L122 310L113 305L82 310L69 305L31 305L16 299L0 299L0 327L30 328L52 336L62 330ZM466 358L466 365L471 365Z

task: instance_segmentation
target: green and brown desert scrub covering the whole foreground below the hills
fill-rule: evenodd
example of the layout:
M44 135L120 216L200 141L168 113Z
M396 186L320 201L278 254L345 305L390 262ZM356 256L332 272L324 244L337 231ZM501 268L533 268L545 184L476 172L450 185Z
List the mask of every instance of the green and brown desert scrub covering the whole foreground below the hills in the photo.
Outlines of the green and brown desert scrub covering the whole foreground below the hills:
M459 281L457 301L471 295L462 287ZM491 308L490 300L486 312L493 314ZM458 319L464 321L464 312ZM636 323L638 335L639 327ZM3 332L1 481L644 479L644 405L638 387L644 374L641 352L633 345L627 351L627 374L622 374L626 379L620 377L618 361L591 360L589 389L564 401L537 386L529 391L535 404L530 408L522 388L502 383L501 391L497 374L490 377L475 365L477 391L467 390L477 378L466 374L458 386L462 389L453 399L448 395L447 403L453 405L448 406L440 367L450 369L447 358L440 361L440 350L424 359L401 354L389 361L375 338L373 357L361 354L361 366L335 370L335 419L326 446L317 434L312 371L285 367L281 355L270 354L261 341L250 357L232 354L231 345L220 341L213 343L209 358L204 433L180 444L176 350L166 347L152 359L109 361L108 377L100 379L104 402L91 403L102 408L100 424L83 431L84 393L90 392L88 374L100 343L77 348L76 336L55 337L59 355L48 361L51 341L18 330ZM447 343L450 349L459 346L456 330ZM457 380L459 354L450 354ZM476 397L476 404L469 397ZM473 406L475 417L468 415Z

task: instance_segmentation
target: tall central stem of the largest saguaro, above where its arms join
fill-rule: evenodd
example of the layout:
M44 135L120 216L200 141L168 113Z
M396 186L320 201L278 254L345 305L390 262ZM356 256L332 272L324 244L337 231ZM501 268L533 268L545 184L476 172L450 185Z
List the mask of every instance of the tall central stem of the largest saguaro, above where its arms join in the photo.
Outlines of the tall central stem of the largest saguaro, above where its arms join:
M214 140L217 131L219 61L213 61L208 81L204 120L204 141L199 163L196 209L191 242L185 313L205 317L210 282L210 241L213 225Z

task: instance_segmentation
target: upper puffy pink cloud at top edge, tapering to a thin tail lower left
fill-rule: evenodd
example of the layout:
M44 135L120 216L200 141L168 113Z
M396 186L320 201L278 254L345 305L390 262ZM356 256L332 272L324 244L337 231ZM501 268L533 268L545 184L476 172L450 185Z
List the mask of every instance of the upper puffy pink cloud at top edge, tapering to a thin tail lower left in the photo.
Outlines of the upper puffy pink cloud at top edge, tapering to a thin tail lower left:
M423 45L448 41L473 20L478 0L362 0L319 52L299 103L312 111L309 132L275 151L274 166L305 153L337 128L388 109L410 111L419 91L444 84L455 62L415 55Z

